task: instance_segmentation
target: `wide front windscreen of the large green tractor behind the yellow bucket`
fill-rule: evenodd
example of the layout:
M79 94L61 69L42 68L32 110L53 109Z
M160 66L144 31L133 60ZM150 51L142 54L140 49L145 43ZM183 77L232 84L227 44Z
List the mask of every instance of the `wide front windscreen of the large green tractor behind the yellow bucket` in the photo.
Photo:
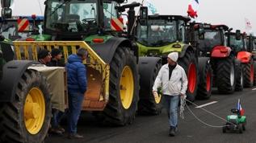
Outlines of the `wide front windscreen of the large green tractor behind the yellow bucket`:
M58 32L86 32L97 27L97 3L94 0L47 1L46 28Z

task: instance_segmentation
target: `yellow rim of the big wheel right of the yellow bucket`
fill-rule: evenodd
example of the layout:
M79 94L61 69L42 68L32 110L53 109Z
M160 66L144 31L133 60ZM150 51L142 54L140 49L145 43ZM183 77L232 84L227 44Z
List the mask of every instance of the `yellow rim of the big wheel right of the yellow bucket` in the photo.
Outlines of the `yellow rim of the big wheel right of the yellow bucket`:
M120 98L125 109L130 108L133 99L134 81L132 70L125 66L120 78Z

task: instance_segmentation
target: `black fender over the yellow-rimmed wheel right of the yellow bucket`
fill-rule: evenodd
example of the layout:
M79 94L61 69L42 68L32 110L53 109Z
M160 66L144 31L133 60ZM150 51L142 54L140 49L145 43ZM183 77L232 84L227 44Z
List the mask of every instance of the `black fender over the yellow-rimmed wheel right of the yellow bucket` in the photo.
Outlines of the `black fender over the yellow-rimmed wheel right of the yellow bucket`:
M91 45L94 51L103 59L105 63L111 63L117 47L130 47L136 57L138 57L138 47L129 39L112 37L106 43L95 43ZM138 62L138 58L137 58Z

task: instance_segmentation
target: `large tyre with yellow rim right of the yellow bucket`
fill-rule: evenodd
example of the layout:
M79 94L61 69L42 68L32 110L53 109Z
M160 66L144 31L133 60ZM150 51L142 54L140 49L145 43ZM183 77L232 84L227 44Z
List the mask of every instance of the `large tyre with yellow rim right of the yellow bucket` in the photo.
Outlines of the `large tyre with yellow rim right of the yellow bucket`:
M129 47L118 47L110 63L109 101L98 117L106 125L132 124L138 100L136 56Z

